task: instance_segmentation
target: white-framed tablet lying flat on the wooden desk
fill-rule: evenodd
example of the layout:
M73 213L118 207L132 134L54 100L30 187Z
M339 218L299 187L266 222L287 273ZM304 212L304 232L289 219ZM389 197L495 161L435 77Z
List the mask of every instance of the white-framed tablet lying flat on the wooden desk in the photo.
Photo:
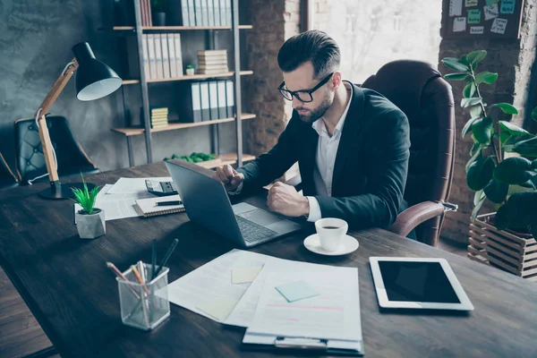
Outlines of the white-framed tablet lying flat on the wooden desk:
M382 308L473 311L473 304L445 259L371 257Z

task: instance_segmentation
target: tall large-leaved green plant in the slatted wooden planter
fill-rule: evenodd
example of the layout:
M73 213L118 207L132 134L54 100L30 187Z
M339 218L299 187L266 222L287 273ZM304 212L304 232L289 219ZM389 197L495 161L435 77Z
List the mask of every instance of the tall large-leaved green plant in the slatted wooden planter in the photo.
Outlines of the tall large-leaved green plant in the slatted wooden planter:
M516 107L508 103L487 105L482 98L480 86L498 79L498 73L476 72L486 55L486 51L478 50L461 58L442 60L442 64L457 71L446 74L447 80L465 81L461 107L468 110L470 119L462 135L471 134L473 140L466 164L466 182L475 192L472 220L488 199L497 205L495 225L499 229L531 230L537 237L537 159L533 159L537 158L537 137L497 118L499 111L518 115ZM537 121L537 107L532 118ZM518 156L505 158L506 153Z

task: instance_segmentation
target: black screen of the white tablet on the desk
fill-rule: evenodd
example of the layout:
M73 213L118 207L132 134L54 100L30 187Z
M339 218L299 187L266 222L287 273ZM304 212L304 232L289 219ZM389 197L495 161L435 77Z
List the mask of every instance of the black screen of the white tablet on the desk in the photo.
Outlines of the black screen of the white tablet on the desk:
M460 303L439 262L379 261L389 301Z

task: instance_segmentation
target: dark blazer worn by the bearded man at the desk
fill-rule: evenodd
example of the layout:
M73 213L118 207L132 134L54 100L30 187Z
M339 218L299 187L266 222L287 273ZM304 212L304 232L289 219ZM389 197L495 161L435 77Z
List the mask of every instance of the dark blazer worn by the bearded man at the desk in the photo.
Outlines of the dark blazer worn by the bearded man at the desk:
M387 98L354 84L332 179L332 196L318 196L313 170L319 135L293 116L277 145L238 169L243 190L277 178L298 161L304 196L315 196L322 217L345 219L353 228L388 227L406 208L403 200L410 134L406 115Z

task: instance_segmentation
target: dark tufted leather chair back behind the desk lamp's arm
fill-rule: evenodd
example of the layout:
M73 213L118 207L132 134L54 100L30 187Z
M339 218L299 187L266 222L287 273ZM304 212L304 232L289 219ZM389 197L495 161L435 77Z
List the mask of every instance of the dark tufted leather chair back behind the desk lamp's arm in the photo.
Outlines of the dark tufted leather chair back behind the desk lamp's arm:
M58 175L65 178L72 175L98 173L80 143L71 132L67 119L61 115L47 115L48 132L54 146L58 162ZM15 121L17 170L22 183L47 173L43 148L39 141L38 127L34 119ZM45 182L48 177L40 179Z

